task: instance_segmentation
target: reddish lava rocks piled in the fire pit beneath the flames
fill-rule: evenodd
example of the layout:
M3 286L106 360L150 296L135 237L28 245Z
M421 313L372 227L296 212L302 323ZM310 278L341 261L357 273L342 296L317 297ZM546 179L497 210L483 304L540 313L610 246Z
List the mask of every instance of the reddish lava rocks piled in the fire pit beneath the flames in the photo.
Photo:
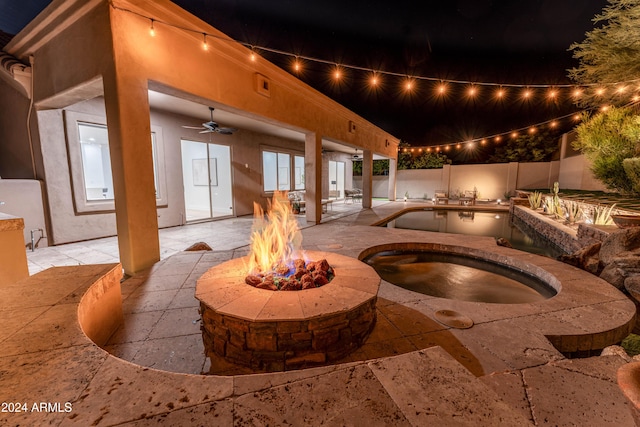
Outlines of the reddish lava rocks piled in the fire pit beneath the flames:
M247 285L259 289L299 291L326 285L334 276L333 268L326 259L309 263L305 263L303 259L296 259L293 269L280 265L273 272L250 274L244 281Z

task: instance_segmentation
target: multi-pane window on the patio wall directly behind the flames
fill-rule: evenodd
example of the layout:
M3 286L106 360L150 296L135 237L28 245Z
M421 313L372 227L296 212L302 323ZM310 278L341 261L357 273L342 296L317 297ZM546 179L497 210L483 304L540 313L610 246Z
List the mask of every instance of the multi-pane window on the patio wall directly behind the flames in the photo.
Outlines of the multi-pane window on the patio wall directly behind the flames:
M262 173L265 192L304 190L304 156L264 150Z

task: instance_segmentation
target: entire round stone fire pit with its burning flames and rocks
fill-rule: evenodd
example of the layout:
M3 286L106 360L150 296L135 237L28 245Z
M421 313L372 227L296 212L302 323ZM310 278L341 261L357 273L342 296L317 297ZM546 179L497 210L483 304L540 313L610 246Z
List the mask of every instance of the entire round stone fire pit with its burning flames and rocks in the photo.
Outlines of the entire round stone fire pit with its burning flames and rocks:
M302 251L286 194L270 208L265 219L254 204L250 254L197 282L205 352L264 371L339 360L373 329L380 278L357 259Z

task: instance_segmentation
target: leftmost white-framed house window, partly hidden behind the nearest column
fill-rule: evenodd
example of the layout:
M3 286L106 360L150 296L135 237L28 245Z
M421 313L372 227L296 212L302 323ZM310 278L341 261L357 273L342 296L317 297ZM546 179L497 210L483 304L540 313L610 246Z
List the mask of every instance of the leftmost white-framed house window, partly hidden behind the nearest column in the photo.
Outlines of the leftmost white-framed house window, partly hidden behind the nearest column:
M109 136L104 117L65 111L67 145L77 212L115 210ZM166 205L162 129L151 126L156 204Z

